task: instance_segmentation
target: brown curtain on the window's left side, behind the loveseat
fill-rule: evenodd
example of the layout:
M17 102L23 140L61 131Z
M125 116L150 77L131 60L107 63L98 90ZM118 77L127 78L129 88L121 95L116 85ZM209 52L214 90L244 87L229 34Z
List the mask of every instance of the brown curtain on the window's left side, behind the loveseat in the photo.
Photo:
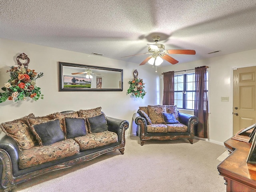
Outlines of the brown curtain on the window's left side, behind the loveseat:
M174 71L164 73L163 105L174 105Z

